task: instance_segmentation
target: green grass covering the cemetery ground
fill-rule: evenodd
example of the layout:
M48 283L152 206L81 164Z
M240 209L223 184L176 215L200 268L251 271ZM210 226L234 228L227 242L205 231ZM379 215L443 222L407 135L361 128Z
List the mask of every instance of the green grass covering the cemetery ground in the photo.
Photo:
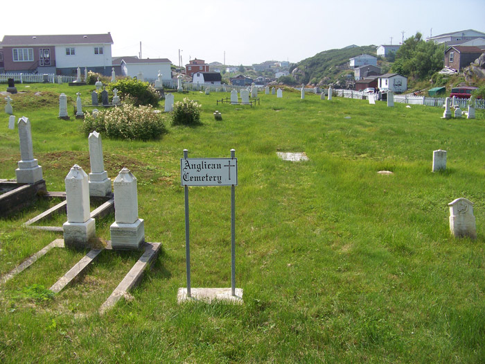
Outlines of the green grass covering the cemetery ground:
M64 92L71 102L80 90L88 102L92 87L30 89ZM1 286L1 361L484 361L483 111L475 120L442 120L437 107L329 102L312 94L302 101L298 92L283 92L283 99L260 93L253 108L215 105L229 97L220 93L175 94L175 101L184 96L202 104L202 125L172 127L167 116L168 134L159 141L103 139L109 177L127 166L138 178L146 239L163 247L152 270L129 300L100 316L99 306L140 254L102 252L85 277L49 297L42 287L84 254L51 250ZM75 163L90 171L80 121L58 120L57 101L39 108L12 98L14 114L32 123L49 191L64 189ZM223 121L213 120L215 110ZM0 177L15 178L18 135L6 120ZM243 306L177 305L177 288L186 285L184 148L189 157L226 157L236 149ZM432 151L440 148L448 151L448 169L431 173ZM310 161L285 162L276 151L304 151ZM193 187L189 194L192 286L230 286L230 189ZM476 241L450 236L447 204L458 197L475 204ZM21 227L55 203L39 200L0 219L0 274L60 237ZM96 221L100 238L109 239L113 220L110 214ZM43 224L62 222L58 215Z

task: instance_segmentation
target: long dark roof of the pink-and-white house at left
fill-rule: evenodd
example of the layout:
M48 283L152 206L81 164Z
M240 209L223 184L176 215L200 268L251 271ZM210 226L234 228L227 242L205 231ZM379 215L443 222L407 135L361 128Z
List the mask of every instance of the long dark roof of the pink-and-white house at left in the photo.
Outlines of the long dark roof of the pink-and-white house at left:
M113 44L110 33L70 35L4 35L3 46L46 46L57 44Z

